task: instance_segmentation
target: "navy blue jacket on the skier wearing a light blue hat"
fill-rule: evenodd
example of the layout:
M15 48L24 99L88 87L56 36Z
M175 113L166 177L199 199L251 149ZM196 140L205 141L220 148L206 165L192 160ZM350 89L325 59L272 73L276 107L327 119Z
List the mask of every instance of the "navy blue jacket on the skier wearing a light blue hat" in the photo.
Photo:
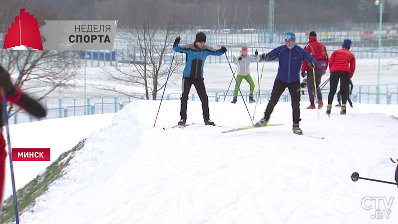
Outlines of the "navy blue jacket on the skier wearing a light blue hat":
M300 69L302 60L316 63L315 58L306 50L297 46L289 49L286 44L275 48L267 54L266 61L272 61L279 58L279 68L277 79L284 83L294 83L300 81Z

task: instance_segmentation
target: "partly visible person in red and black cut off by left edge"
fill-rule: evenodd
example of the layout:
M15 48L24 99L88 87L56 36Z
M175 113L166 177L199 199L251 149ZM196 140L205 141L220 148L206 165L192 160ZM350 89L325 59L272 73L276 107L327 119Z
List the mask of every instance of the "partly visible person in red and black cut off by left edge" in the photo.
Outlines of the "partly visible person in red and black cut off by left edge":
M15 88L9 78L7 71L3 69L0 65L0 88L3 90L2 93L5 94L5 100L10 103L15 103L20 108L29 112L36 117L46 116L46 111L44 108L37 103L37 101L31 99L26 94L22 93L21 90ZM2 98L0 98L0 124L3 126L3 106ZM0 208L2 203L2 193L4 189L4 170L5 170L5 157L7 157L7 152L5 151L5 140L2 135L2 128L0 127Z

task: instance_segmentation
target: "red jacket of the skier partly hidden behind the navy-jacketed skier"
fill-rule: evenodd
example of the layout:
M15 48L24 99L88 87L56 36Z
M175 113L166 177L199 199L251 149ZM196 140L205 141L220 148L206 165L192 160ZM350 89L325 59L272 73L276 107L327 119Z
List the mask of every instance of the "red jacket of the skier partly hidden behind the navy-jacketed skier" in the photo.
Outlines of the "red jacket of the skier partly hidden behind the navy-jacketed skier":
M316 68L316 69L319 69L319 70L327 69L327 63L329 63L329 56L327 55L326 47L325 47L325 45L319 43L318 40L316 39L316 37L310 38L308 41L308 44L304 47L304 49L308 53L310 53L311 56L314 57L316 60L326 61L326 68L324 68L324 69ZM312 69L312 67L310 65L308 65L305 60L302 61L301 72L305 72L310 69Z

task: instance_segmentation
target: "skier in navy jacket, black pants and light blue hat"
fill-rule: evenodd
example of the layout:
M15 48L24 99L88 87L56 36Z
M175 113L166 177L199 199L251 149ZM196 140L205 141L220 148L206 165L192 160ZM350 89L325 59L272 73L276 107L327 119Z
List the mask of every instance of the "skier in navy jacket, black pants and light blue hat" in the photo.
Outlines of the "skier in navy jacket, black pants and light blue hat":
M275 105L278 103L279 98L286 88L289 89L292 97L293 108L293 132L302 134L298 123L300 119L300 69L302 60L315 67L316 60L306 50L297 46L296 36L293 32L285 34L285 45L279 46L268 54L263 54L265 61L272 61L279 57L279 68L277 77L274 82L274 87L271 93L270 102L264 112L264 118L259 120L255 126L266 126L270 115L274 110Z

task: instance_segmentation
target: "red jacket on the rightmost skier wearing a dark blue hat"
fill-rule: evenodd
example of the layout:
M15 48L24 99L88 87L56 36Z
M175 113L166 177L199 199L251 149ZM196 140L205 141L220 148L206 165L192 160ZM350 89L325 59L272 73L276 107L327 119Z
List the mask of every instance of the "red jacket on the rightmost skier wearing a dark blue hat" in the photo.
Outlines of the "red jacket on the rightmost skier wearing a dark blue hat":
M355 71L355 56L347 48L335 50L330 56L329 69L330 72L348 72L351 79Z

